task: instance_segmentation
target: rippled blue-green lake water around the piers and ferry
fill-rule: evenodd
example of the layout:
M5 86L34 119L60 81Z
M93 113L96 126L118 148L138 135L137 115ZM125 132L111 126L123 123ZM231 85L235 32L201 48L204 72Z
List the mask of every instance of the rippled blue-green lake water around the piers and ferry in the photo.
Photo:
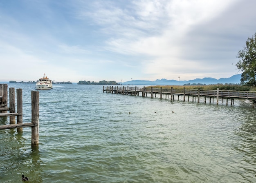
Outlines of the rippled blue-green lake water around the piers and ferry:
M22 88L23 123L31 123L35 85L9 87ZM33 183L256 180L256 109L247 100L171 101L103 93L103 85L54 85L39 96L38 148L30 127L0 130L1 183L22 174Z

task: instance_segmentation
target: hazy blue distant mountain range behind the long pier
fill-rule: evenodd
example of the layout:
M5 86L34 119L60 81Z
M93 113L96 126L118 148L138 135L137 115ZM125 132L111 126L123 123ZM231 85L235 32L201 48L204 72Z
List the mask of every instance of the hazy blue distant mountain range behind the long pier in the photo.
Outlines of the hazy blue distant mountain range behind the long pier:
M211 84L225 84L225 83L232 83L232 84L240 84L241 74L236 74L234 76L231 76L230 78L202 78L202 79L194 79L194 80L167 80L167 79L157 79L155 81L148 81L148 80L130 80L122 83L123 85L184 85L184 84L205 84L205 85L211 85Z

